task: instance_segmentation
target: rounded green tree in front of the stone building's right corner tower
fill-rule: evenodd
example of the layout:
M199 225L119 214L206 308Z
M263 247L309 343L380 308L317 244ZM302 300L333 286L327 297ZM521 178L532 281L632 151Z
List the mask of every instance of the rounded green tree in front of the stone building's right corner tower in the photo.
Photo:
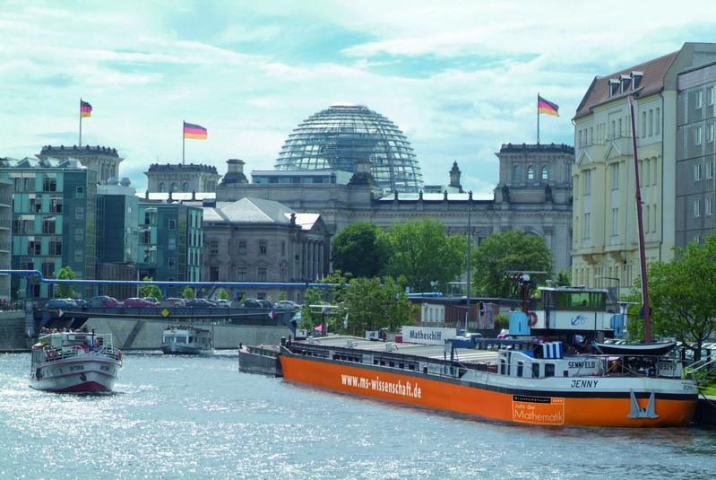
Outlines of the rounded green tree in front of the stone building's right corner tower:
M544 284L552 271L552 253L545 240L523 231L504 231L490 235L472 256L473 278L478 291L490 297L515 298L520 285L507 273L544 271L530 274L531 289Z

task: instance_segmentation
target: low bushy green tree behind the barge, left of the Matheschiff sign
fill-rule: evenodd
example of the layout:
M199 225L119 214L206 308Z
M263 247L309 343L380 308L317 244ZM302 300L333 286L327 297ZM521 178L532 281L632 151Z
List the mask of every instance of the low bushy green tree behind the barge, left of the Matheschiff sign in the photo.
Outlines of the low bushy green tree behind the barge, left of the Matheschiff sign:
M418 310L408 301L404 285L389 276L382 280L377 277L351 280L340 307L334 328L344 329L348 313L346 330L357 336L363 336L366 330L397 331L402 325L412 325Z

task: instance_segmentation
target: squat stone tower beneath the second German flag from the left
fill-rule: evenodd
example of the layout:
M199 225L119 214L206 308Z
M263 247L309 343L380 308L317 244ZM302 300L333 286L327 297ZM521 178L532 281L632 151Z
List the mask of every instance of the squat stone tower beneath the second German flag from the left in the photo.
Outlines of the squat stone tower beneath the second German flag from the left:
M194 163L153 163L147 176L149 192L214 192L220 175L216 167Z

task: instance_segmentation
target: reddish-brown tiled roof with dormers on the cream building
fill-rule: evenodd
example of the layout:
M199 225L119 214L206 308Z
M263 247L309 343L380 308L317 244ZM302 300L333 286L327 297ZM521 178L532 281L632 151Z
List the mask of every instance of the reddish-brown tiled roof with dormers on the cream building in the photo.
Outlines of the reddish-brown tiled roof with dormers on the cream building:
M589 90L584 94L582 101L577 107L576 115L574 118L582 118L591 114L592 109L595 107L607 103L609 101L616 100L618 98L625 98L628 94L635 94L637 97L645 97L659 93L664 89L664 76L669 71L669 68L676 60L680 50L669 53L663 57L654 58L643 64L630 66L624 70L620 70L614 74L608 74L603 77L595 77L592 81ZM636 90L628 90L618 95L609 97L609 80L618 79L620 75L631 74L632 72L642 72L643 77L639 86Z

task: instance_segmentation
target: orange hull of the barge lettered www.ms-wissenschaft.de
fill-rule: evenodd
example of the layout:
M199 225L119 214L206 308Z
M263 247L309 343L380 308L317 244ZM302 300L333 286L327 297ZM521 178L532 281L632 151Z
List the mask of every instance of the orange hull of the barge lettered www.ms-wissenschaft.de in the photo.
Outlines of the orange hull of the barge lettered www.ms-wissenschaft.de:
M286 380L350 395L513 423L680 427L691 421L696 406L695 396L656 395L654 411L658 416L633 418L629 416L634 412L634 400L629 391L606 396L578 390L569 392L569 396L560 392L550 396L539 392L539 396L530 396L524 391L479 388L419 372L401 374L379 368L358 368L345 362L310 359L291 353L281 353L280 363ZM636 402L641 411L648 410L649 397L645 392L636 396Z

